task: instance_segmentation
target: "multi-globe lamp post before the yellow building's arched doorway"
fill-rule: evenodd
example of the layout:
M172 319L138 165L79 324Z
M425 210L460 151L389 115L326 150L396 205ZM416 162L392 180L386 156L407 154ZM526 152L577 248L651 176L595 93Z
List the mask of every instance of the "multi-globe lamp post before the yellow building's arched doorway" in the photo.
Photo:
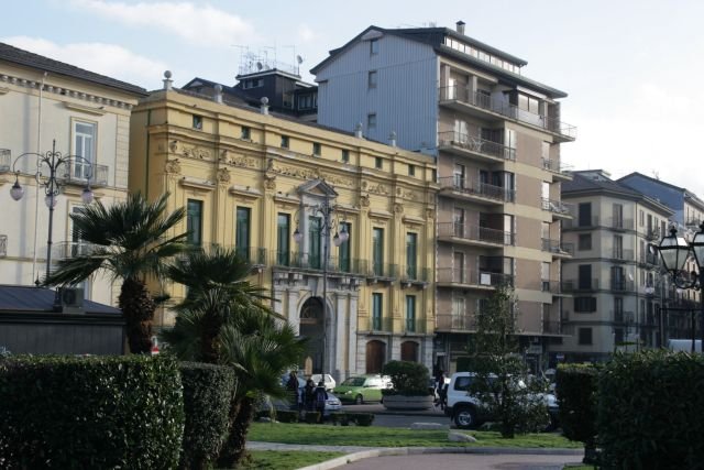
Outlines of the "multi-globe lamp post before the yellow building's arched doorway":
M304 214L319 215L322 218L322 227L320 227L322 234L322 360L320 364L320 376L324 382L326 356L328 353L328 264L330 263L330 233L334 230L332 242L336 247L340 247L346 242L350 239L350 233L344 225L340 225L337 219L332 218L337 206L330 205L329 195L324 195L321 204L304 205L302 209ZM338 226L341 226L340 231L337 230ZM298 227L296 227L294 231L294 240L299 244L304 241L304 234L298 230Z

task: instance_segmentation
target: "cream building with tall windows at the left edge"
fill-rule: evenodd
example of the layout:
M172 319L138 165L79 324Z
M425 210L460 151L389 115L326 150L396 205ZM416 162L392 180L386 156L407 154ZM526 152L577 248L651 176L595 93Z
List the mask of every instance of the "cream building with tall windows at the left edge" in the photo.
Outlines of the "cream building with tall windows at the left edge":
M52 230L52 261L81 250L69 214L81 205L90 184L103 204L128 195L130 114L146 91L0 43L0 284L33 285L44 277ZM66 163L56 165L62 192L54 200L53 223L44 188L50 170L36 154L54 149ZM24 153L34 153L25 155ZM51 159L50 159L51 160ZM24 195L15 201L10 187ZM80 286L88 299L114 305L117 287L100 275Z

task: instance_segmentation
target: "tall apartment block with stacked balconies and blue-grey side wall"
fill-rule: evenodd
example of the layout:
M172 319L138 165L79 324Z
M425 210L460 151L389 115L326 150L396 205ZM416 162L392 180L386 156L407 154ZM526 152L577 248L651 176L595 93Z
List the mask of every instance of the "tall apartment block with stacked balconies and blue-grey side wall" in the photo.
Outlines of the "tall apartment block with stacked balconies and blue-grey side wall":
M526 358L547 363L561 336L560 144L566 94L522 73L526 61L447 28L370 26L311 73L318 122L437 159L436 353L454 371L499 283L515 287Z

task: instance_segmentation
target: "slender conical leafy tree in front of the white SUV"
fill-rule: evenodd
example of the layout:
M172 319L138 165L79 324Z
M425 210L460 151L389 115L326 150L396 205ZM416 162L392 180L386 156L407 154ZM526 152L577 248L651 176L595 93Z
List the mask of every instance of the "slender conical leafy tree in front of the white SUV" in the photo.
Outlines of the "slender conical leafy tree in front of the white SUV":
M549 423L542 394L527 376L519 354L513 287L499 285L477 315L476 334L470 343L476 380L470 393L501 420L503 437L538 430Z

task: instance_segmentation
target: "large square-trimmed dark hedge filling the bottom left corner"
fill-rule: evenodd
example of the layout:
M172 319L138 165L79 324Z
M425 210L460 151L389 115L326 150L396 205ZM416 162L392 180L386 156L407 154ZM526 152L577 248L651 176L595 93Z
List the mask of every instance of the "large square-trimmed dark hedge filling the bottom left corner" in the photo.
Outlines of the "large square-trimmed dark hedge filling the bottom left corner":
M172 469L184 402L167 357L0 362L0 468Z

